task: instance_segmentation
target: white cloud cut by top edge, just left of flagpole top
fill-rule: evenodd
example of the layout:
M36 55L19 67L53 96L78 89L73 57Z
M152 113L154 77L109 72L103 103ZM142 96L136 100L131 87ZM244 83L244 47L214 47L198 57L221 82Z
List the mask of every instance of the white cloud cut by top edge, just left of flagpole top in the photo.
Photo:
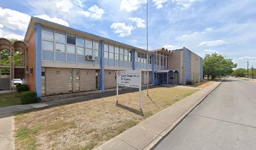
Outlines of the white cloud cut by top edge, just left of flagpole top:
M127 12L136 11L141 8L142 4L146 4L147 0L122 0L120 4L120 9Z

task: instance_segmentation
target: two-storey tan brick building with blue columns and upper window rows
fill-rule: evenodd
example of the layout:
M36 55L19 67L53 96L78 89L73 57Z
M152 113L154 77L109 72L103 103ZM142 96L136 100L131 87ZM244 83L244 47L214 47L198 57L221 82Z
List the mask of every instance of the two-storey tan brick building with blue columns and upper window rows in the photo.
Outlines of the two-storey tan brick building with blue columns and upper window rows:
M186 84L201 71L194 63L201 58L188 49L146 51L37 17L31 17L24 42L26 83L38 96L104 93L115 88L117 70L141 70L142 84L147 78L149 84Z

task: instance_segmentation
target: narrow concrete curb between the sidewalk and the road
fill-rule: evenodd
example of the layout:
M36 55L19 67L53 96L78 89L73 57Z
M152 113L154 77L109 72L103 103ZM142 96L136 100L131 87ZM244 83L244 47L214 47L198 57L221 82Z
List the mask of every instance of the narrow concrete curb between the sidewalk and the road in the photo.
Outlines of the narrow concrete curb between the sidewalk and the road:
M221 80L220 84L222 83L223 80ZM188 114L191 113L191 111L193 111L201 102L203 102L203 100L205 100L205 98L207 98L207 96L209 94L211 94L211 92L213 90L215 90L216 88L218 88L218 86L220 86L220 84L218 84L215 88L211 89L211 91L206 94L205 97L201 98L200 101L198 101L193 107L191 107L188 111L186 111L186 113L184 113L182 116L180 116L178 119L176 119L176 121L174 121L173 124L171 124L171 126L169 126L169 131L166 132L166 134L164 134L164 136L157 136L151 143L149 143L145 148L143 148L143 150L152 150L154 148L156 148L156 146L161 143L161 141L163 141L164 138L166 138L166 136L168 136L169 133L171 133L171 131L173 131L176 126L179 125L179 123L181 123L181 121L183 121L183 119L186 118L186 116L188 116Z

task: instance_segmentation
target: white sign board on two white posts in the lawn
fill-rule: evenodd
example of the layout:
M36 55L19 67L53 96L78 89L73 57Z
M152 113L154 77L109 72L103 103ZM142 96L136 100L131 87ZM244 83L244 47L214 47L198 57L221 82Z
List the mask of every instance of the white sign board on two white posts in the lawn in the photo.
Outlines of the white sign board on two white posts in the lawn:
M118 86L139 88L139 108L142 111L141 71L139 71L139 70L117 71L116 75L117 75L117 102L116 102L116 104L118 104Z

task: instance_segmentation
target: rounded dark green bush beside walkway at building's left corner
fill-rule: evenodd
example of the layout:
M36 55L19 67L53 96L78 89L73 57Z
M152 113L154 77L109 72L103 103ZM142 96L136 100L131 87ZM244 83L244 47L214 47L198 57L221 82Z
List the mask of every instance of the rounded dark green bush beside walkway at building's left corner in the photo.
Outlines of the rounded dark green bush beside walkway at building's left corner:
M32 91L26 91L21 93L21 104L31 104L40 101L40 98L36 97L36 93Z

